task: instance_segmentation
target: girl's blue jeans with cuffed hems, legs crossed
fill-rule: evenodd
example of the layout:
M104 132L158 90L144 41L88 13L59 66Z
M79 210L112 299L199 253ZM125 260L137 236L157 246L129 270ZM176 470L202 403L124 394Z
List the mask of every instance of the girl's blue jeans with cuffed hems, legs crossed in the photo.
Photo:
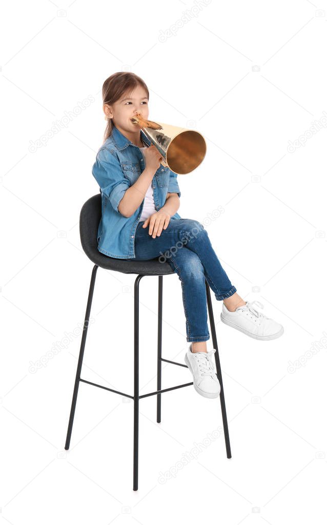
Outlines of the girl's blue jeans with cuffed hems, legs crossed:
M168 262L181 281L187 341L208 341L205 280L217 301L236 292L211 245L208 232L192 219L172 219L159 237L149 235L149 226L138 223L135 232L135 259L159 258Z

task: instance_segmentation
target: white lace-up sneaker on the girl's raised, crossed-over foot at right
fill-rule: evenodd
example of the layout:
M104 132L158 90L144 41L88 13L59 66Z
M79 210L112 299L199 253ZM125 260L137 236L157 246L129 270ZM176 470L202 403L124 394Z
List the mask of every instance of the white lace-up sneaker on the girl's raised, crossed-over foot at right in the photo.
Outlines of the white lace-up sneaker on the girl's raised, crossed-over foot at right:
M282 325L258 312L254 308L254 304L264 308L264 305L259 301L246 301L246 304L236 308L235 312L230 312L223 303L220 318L223 323L246 333L246 335L254 339L268 341L280 337L284 333Z

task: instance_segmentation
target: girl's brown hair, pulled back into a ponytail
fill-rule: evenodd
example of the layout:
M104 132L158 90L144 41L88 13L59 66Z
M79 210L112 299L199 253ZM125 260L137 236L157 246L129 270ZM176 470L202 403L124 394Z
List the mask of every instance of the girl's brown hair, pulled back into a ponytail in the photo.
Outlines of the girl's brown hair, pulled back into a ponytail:
M114 102L119 100L125 93L128 96L129 93L137 87L141 86L146 91L149 99L149 90L144 80L130 73L129 71L118 71L110 77L108 77L102 86L102 100L103 104L112 105ZM112 119L108 119L107 126L104 132L104 141L112 134L113 122Z

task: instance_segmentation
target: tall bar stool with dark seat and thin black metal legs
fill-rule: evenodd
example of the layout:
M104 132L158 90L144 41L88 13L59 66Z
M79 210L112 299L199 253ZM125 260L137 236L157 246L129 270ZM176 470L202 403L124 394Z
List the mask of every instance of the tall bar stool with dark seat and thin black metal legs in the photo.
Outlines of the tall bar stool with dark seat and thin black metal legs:
M80 213L80 236L81 236L82 247L83 247L83 250L85 251L85 254L89 257L89 259L91 259L92 262L94 262L94 267L92 270L88 303L86 305L86 313L85 313L85 321L84 321L83 332L82 332L81 348L80 348L77 372L76 372L75 383L74 383L73 398L72 398L69 424L68 424L68 430L67 430L66 445L64 448L68 450L69 445L70 445L70 439L71 439L71 433L72 433L72 427L73 427L73 421L74 421L74 413L75 413L75 407L76 407L77 395L78 395L78 389L79 389L80 382L87 383L93 386L97 386L97 387L103 388L104 390L114 392L115 394L123 395L125 397L129 397L133 399L134 400L133 490L138 490L138 405L139 405L139 400L144 397L151 396L151 395L157 396L157 423L160 423L161 422L161 394L163 392L169 392L170 390L176 390L176 388L183 388L184 386L190 386L193 384L193 382L185 383L185 384L177 385L177 386L172 386L171 388L163 388L163 390L161 390L161 363L162 361L166 363L175 364L178 366L185 366L187 368L186 364L177 363L175 361L169 361L168 359L164 359L161 356L162 276L174 274L175 272L172 270L168 262L165 262L162 264L161 262L159 262L158 258L147 260L147 261L130 261L130 260L124 260L124 259L115 259L115 258L107 257L106 255L101 254L100 251L97 249L97 227L99 225L100 218L101 218L101 194L97 194L89 198L88 201L85 202L85 204L83 205L81 209L81 213ZM96 277L97 268L99 268L99 266L101 268L119 271L119 272L122 272L123 274L137 274L137 277L134 283L134 395L125 394L124 392L119 392L117 390L113 390L112 388L108 388L103 385L92 383L91 381L86 381L85 379L81 378L83 355L84 355L86 334L88 333L88 324L89 324L90 313L91 313L91 304L92 304L92 297L93 297L93 291L94 291L94 285L95 285L95 277ZM139 395L139 331L138 331L139 329L139 282L141 278L144 276L158 276L157 390L155 392L149 392L148 394ZM221 367L220 367L220 360L219 360L219 353L218 353L218 346L217 346L217 339L216 339L216 331L215 331L215 324L214 324L213 311L212 311L210 288L209 288L207 281L205 281L205 287L206 287L206 302L207 302L207 306L209 310L211 337L212 337L212 342L213 342L213 348L216 349L216 352L214 353L216 372L217 372L217 377L219 379L220 386L221 386L220 404L221 404L222 419L223 419L226 454L227 454L227 458L231 458L232 455L231 455L230 438L228 434L224 388L223 388L223 381L222 381L222 374L221 374Z

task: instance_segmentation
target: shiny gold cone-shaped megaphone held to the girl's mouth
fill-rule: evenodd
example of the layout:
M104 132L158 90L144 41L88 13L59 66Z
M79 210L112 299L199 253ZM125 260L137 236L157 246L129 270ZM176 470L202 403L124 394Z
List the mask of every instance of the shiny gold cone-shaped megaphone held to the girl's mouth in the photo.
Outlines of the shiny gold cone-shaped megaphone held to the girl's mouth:
M191 173L203 161L206 144L198 131L145 120L139 113L130 120L139 125L141 132L157 148L163 159L160 163L174 173Z

